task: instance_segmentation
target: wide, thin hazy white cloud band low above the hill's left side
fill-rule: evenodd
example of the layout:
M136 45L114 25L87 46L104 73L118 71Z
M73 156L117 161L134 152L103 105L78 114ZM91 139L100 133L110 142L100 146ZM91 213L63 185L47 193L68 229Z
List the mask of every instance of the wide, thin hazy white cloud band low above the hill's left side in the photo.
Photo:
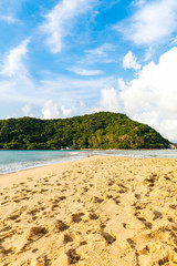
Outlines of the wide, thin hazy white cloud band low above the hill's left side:
M52 73L48 73L37 83L22 61L22 65L15 74L1 76L0 103L8 103L8 113L13 113L17 104L20 106L31 104L35 105L35 110L37 106L41 110L49 99L53 101L58 99L59 106L64 105L69 109L75 103L77 104L81 99L87 102L93 101L100 95L103 88L115 83L114 76L71 79L67 75L60 76ZM84 112L84 109L82 110Z

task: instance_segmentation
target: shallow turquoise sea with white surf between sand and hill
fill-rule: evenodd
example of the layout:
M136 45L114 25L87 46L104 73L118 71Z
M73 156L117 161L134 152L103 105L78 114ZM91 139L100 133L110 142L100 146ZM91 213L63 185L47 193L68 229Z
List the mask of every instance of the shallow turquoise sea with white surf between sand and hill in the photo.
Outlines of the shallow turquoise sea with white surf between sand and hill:
M177 158L177 150L0 151L0 175L55 163L77 161L92 155Z

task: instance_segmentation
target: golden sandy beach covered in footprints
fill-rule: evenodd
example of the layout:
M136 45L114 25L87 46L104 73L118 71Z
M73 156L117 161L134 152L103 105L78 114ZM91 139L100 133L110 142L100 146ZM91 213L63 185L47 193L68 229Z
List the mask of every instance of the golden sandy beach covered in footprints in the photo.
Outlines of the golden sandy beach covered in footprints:
M92 156L0 176L0 265L177 265L177 160Z

